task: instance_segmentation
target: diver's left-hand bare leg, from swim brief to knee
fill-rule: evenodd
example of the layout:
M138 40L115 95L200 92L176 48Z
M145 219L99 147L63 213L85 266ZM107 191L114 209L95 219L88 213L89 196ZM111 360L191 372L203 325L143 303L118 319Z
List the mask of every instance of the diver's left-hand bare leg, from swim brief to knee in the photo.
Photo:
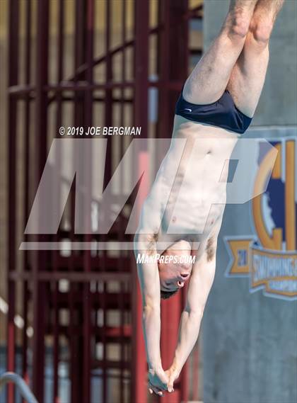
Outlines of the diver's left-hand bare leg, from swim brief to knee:
M219 35L185 82L186 101L207 104L217 101L225 91L248 34L257 0L231 0Z

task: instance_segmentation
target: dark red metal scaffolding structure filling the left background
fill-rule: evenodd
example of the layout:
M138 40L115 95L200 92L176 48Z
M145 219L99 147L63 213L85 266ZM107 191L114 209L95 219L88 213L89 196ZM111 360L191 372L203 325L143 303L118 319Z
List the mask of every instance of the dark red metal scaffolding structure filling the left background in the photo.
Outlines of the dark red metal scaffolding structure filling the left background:
M57 1L57 50L54 62L50 57L50 0L10 1L9 68L8 68L8 370L16 369L16 330L14 317L21 306L24 319L22 334L22 376L32 382L39 402L45 397L46 348L51 347L52 401L59 402L61 361L69 368L71 402L148 402L146 387L146 356L141 328L141 297L136 278L136 265L131 253L110 256L108 251L71 251L64 256L53 251L19 251L18 233L23 234L31 205L45 166L52 134L63 124L64 114L71 106L71 125L93 125L94 111L100 108L101 126L141 126L141 137L170 137L175 101L188 74L189 21L201 18L201 7L190 10L187 1L158 1L157 25L151 26L152 2L137 0L133 4L133 35L128 36L128 1L118 0L121 12L122 44L112 47L112 6L105 1L105 32L103 55L95 53L95 0L74 0L73 72L65 72L65 4ZM129 1L131 4L131 1ZM34 25L35 24L35 25ZM156 41L156 74L150 79L151 40ZM121 57L120 79L115 79L115 57ZM132 55L132 58L130 57ZM50 64L54 63L54 79ZM132 64L132 78L129 77ZM103 66L105 76L95 79L95 69ZM21 72L22 70L22 72ZM22 74L21 74L22 73ZM21 78L20 78L21 77ZM156 78L157 77L157 78ZM157 124L148 116L149 91L158 89ZM50 108L55 113L50 114ZM96 109L97 108L97 109ZM115 113L117 109L117 114ZM69 112L67 112L69 113ZM128 118L127 118L128 117ZM127 119L129 122L127 122ZM21 121L21 125L18 123ZM20 127L21 126L21 127ZM153 133L153 134L152 134ZM113 172L114 140L107 140L105 185ZM22 141L21 141L22 138ZM19 149L20 142L23 147ZM124 138L120 138L120 154L124 154ZM137 167L135 167L137 169ZM20 181L23 191L20 191ZM79 235L74 232L75 181L67 206L68 227L60 226L54 235L22 235L22 241L59 242L127 240L124 229L127 217L120 214L107 235ZM137 190L136 190L137 191ZM135 191L135 192L136 192ZM127 204L132 205L135 194ZM20 202L21 200L21 202ZM23 219L19 220L18 209ZM129 239L131 240L131 238ZM18 262L20 262L18 264ZM21 294L16 293L16 283ZM62 287L62 282L66 288ZM117 283L117 284L115 284ZM17 302L21 297L21 303ZM177 293L161 306L161 351L163 365L168 367L177 341L177 330L185 295ZM110 312L117 323L109 324ZM62 320L63 314L68 319ZM33 328L33 335L28 333ZM176 338L172 335L176 335ZM115 359L110 351L117 351ZM32 362L27 351L33 351ZM29 367L32 367L32 375ZM95 379L100 380L95 384ZM197 380L195 380L197 384ZM97 385L97 386L94 386ZM95 388L95 389L94 389ZM167 395L166 403L187 402L189 376L185 365L177 392ZM95 399L97 396L98 399ZM197 394L192 397L197 398ZM8 387L8 402L13 403L14 390Z

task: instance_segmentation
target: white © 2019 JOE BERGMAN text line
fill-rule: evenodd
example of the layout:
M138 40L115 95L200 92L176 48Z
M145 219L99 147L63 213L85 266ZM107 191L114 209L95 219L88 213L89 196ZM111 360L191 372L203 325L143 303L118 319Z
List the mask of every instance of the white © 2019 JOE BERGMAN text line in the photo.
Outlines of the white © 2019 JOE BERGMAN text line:
M140 136L141 126L59 127L60 136Z

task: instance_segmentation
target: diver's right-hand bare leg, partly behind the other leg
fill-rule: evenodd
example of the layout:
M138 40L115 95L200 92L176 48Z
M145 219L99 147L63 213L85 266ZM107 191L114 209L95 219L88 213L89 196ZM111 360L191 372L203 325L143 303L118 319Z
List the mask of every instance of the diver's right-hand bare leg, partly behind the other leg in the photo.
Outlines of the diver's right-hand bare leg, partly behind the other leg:
M235 105L250 118L259 101L269 60L269 38L284 0L258 0L243 51L227 89Z

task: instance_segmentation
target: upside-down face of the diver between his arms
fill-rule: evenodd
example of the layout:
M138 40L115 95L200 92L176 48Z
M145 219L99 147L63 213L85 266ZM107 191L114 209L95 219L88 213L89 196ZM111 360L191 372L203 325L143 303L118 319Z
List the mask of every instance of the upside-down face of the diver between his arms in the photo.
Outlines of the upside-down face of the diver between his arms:
M178 254L178 255L177 255ZM180 251L165 251L163 255L180 256ZM189 280L192 272L192 263L158 263L160 288L162 291L175 291L182 288Z

